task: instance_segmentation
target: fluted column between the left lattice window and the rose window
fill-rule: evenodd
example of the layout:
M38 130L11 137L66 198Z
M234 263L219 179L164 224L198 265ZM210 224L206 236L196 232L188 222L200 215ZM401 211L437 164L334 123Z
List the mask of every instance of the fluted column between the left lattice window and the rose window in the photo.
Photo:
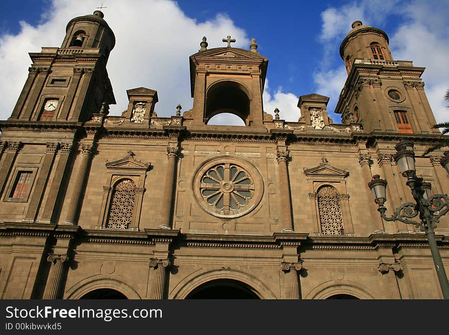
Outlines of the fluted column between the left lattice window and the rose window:
M173 190L176 183L176 164L178 162L179 147L167 147L167 175L165 177L165 190L162 203L162 223L159 228L171 229L171 219L173 215Z

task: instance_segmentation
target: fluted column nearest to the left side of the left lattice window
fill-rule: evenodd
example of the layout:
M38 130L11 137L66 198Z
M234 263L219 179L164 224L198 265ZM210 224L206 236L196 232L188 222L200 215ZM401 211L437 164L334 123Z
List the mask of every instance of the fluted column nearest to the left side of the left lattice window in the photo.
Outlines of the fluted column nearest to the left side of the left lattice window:
M78 221L78 212L81 204L81 195L84 191L87 182L87 176L89 172L89 165L92 159L92 153L94 149L90 144L83 144L81 147L81 166L78 172L78 177L75 182L72 198L70 201L70 207L64 221L64 224L76 225Z

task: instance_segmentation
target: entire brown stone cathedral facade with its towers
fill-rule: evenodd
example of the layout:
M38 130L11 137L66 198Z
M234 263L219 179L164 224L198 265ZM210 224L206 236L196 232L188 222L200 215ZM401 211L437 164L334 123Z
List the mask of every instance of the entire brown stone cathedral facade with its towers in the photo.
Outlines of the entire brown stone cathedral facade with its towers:
M191 110L158 117L157 91L127 91L121 116L101 11L70 20L61 47L31 53L0 121L3 299L441 298L425 234L385 221L368 183L388 181L387 214L413 201L394 161L414 143L416 173L449 190L422 67L356 21L340 47L347 80L298 101L298 121L263 110L268 59L250 48L190 56ZM223 40L223 41L224 41ZM123 107L124 108L124 107ZM245 126L210 125L220 113ZM436 240L449 268L449 220Z

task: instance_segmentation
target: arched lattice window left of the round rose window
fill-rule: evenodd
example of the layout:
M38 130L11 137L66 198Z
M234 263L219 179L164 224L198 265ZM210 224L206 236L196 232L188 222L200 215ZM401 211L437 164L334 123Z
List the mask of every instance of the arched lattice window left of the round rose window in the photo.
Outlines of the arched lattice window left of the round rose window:
M136 185L131 179L121 179L112 191L107 228L127 229L131 227L134 212Z

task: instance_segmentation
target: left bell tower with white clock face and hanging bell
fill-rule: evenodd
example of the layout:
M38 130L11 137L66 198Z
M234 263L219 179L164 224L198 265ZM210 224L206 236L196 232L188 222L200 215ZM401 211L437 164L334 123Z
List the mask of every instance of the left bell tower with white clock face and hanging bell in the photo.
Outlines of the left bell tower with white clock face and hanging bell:
M101 11L71 19L60 48L30 53L32 65L9 120L83 122L115 104L106 64L115 37Z

